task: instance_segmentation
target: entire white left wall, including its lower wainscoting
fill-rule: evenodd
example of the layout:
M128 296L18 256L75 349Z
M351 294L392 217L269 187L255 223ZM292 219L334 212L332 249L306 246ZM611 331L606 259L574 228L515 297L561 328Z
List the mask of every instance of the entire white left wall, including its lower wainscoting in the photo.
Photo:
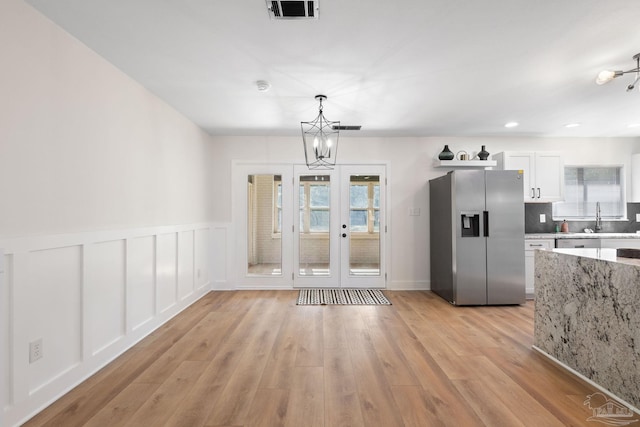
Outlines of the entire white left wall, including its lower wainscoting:
M17 425L224 282L227 236L204 131L21 0L0 2L0 62L0 425Z

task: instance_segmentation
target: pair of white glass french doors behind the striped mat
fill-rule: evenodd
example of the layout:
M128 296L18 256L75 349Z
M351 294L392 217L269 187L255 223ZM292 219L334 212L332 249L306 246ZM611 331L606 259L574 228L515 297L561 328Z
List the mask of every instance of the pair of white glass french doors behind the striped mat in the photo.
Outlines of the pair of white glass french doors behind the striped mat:
M294 287L385 287L384 172L294 166Z

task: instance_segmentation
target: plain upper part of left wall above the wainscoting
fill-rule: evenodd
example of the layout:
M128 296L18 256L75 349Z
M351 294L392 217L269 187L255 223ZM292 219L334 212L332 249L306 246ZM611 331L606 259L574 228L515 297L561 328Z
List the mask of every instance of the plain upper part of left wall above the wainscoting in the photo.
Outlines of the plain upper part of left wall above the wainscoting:
M210 137L26 3L0 7L0 237L208 221Z

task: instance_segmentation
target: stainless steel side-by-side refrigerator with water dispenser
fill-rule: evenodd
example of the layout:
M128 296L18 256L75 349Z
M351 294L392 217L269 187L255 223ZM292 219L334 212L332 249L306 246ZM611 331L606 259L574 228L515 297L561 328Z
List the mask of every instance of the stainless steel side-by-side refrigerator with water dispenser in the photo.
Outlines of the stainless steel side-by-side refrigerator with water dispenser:
M429 181L433 292L455 305L525 302L522 181L514 170Z

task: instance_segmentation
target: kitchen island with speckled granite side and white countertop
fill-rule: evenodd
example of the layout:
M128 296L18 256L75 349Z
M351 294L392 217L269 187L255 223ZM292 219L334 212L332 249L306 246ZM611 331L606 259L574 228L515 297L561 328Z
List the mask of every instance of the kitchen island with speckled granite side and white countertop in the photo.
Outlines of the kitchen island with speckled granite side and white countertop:
M535 254L534 348L640 407L640 259L615 249Z

